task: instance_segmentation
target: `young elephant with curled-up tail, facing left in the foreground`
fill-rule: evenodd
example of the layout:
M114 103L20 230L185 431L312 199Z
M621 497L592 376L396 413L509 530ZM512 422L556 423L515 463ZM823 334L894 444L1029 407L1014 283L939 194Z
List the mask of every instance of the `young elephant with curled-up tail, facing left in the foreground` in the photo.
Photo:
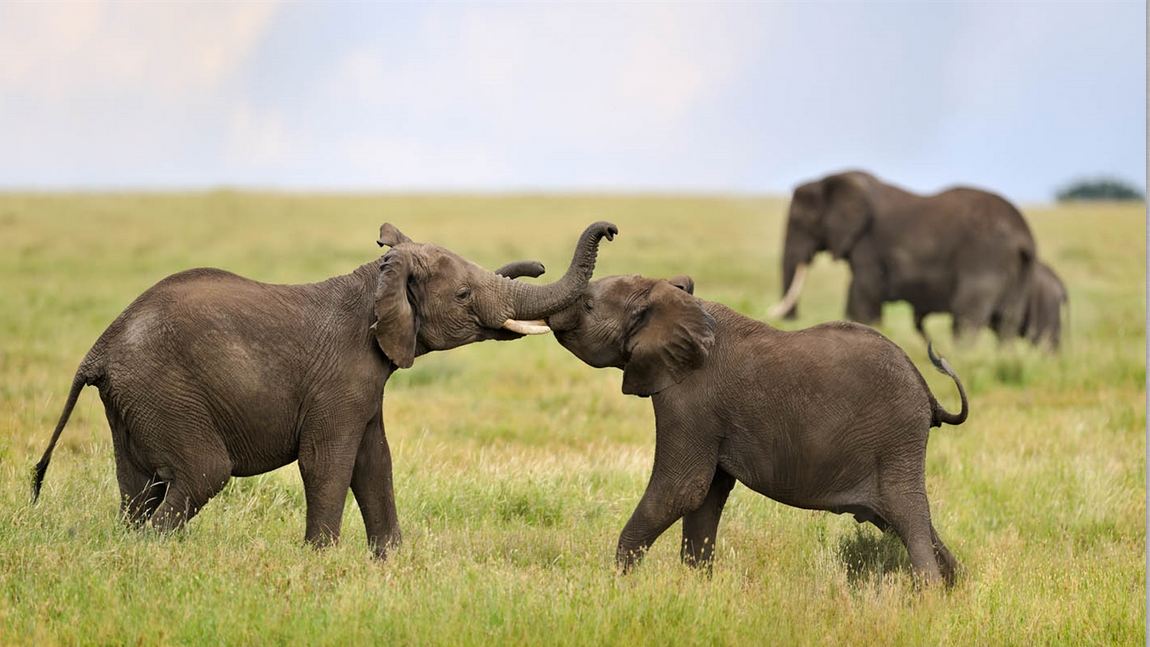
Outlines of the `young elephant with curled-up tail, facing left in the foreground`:
M892 527L919 580L952 583L956 562L930 523L931 426L960 424L903 351L854 323L785 332L695 298L687 277L616 276L551 317L555 339L623 393L654 406L654 468L615 554L626 572L683 518L682 560L710 568L735 482L782 503Z

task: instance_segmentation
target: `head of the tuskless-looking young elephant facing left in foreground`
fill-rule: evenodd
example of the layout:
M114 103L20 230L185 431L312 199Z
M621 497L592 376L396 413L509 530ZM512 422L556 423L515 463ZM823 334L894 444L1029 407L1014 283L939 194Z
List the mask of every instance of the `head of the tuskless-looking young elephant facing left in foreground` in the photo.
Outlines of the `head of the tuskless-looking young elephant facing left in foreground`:
M547 324L583 362L623 369L623 393L653 395L699 368L714 345L714 318L693 288L689 277L601 278Z

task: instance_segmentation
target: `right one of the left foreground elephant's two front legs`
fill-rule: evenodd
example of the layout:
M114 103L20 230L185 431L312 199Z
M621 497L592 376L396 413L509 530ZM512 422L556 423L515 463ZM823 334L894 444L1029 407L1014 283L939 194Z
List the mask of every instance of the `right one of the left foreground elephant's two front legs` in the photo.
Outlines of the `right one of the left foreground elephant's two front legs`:
M388 552L399 547L399 517L396 514L396 494L391 478L391 450L383 430L383 416L368 423L355 454L352 471L352 492L363 515L367 544L371 553L383 560Z

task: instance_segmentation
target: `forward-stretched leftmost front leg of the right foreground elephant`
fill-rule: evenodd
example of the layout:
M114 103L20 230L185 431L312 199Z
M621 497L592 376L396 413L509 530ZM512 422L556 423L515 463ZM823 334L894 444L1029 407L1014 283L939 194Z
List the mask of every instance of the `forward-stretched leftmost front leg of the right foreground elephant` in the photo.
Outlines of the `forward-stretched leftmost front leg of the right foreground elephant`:
M689 429L657 430L654 454L651 480L619 536L615 563L624 573L670 524L703 504L719 463L718 445L699 447Z

